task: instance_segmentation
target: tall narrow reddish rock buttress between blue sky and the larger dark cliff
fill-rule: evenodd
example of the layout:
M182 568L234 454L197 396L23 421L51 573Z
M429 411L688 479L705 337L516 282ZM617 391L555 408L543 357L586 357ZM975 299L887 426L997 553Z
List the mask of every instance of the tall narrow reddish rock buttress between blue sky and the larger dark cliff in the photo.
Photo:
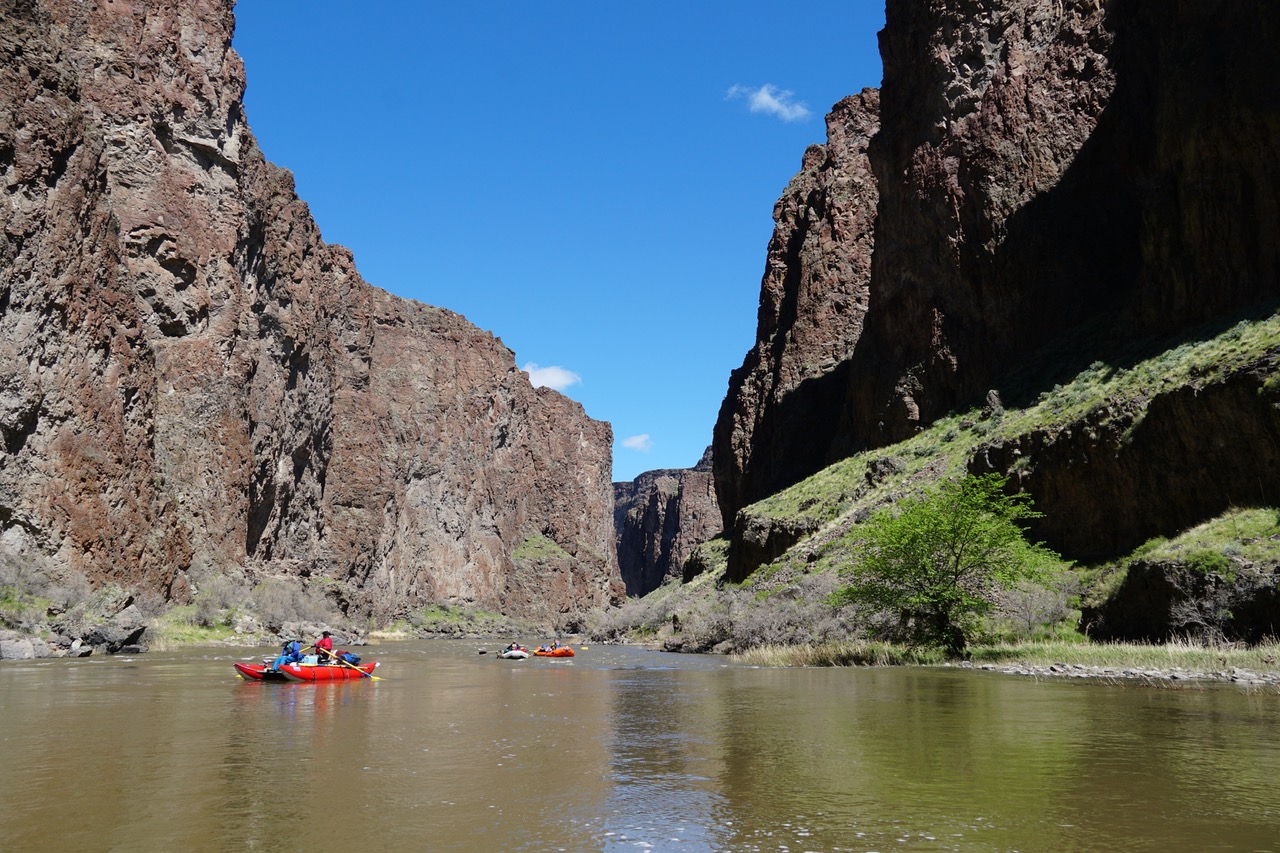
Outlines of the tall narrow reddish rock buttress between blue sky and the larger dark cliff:
M726 529L745 503L822 467L863 332L876 224L867 147L879 95L865 90L827 115L773 207L756 343L730 377L716 423L716 482Z

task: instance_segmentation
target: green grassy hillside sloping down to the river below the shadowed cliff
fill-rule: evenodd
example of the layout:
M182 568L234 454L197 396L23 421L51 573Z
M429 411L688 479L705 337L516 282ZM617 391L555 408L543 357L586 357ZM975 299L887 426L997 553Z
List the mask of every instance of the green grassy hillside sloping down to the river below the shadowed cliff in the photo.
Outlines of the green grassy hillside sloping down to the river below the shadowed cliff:
M703 574L694 583L668 584L596 628L603 635L631 631L672 648L700 651L861 637L869 626L856 615L828 607L826 596L838 585L840 570L851 565L860 523L876 508L980 467L975 460L993 446L1016 446L1032 434L1043 444L1044 435L1068 430L1089 435L1115 424L1133 430L1162 394L1196 392L1247 373L1258 377L1257 393L1270 397L1280 392L1277 359L1280 315L1271 315L1180 342L1125 368L1094 362L1025 409L997 403L957 412L909 441L841 460L746 507L733 533L737 540L714 539L700 546L692 561ZM1032 456L1016 459L1005 473L1016 482L1019 470L1036 461ZM786 530L792 539L799 532L799 538L781 556L754 567L742 583L727 583L728 551L742 546L745 538L764 542L774 530ZM1190 561L1224 576L1242 562L1274 566L1280 564L1277 516L1270 508L1240 507L1103 565L1075 566L1052 589L1010 596L991 620L989 640L1074 635L1082 603L1105 598L1135 558Z

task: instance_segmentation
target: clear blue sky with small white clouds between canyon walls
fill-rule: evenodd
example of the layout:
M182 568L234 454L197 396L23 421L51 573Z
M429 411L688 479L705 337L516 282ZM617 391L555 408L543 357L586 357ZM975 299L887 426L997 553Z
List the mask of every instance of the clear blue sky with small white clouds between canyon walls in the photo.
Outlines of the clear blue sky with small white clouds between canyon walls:
M239 0L250 127L371 284L465 315L687 467L755 338L773 204L881 82L883 3Z

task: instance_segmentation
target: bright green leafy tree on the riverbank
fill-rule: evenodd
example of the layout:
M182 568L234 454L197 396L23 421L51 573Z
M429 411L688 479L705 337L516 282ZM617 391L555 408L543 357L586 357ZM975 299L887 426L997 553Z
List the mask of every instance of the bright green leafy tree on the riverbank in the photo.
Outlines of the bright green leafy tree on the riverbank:
M887 611L913 642L964 654L1001 590L1042 580L1060 561L1027 542L1019 523L1043 514L1029 494L1005 494L1006 479L948 480L872 515L833 603Z

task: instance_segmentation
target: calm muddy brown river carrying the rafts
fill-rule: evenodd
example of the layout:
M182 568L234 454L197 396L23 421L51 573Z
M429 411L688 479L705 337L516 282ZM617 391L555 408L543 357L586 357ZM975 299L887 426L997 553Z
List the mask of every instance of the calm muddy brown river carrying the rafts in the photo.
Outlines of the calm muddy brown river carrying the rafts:
M1280 849L1274 692L497 647L0 665L0 849Z

